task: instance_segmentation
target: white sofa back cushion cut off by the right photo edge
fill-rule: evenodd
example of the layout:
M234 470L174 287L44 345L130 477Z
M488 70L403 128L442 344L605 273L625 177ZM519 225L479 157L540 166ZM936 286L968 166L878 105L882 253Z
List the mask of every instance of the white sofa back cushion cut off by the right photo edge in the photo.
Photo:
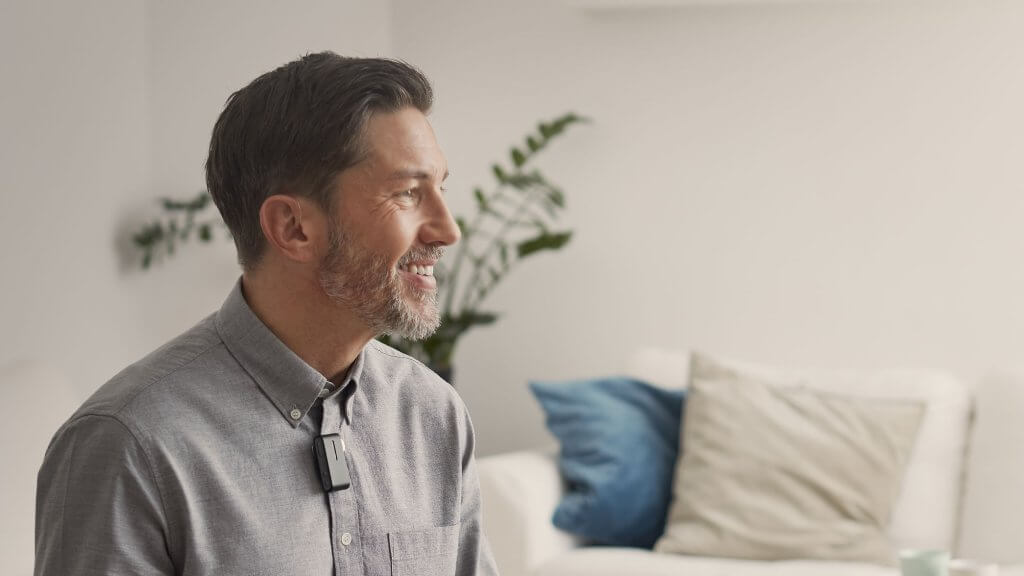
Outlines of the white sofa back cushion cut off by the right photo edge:
M1024 372L978 386L957 551L1024 563Z

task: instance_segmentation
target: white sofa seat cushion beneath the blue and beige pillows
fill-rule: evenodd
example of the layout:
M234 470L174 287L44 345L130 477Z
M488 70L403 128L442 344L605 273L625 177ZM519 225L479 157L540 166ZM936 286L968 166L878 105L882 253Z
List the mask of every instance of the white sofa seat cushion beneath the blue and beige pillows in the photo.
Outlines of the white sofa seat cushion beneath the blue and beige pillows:
M659 554L637 548L578 548L548 561L532 576L899 576L850 562L753 562Z

